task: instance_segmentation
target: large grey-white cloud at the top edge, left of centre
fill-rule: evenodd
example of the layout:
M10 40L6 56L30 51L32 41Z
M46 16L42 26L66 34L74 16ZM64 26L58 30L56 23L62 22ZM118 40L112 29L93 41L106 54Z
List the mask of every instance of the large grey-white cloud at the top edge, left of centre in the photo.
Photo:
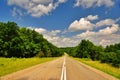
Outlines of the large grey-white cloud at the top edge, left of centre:
M26 14L30 14L33 17L40 17L42 15L48 15L59 4L64 2L66 0L8 0L8 5L20 7L26 10Z

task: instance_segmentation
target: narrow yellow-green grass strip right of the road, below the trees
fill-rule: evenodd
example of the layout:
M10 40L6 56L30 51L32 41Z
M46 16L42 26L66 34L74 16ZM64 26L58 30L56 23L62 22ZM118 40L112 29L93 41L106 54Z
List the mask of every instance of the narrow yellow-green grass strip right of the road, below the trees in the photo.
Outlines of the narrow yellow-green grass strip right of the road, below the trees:
M75 58L75 59L120 79L120 68L115 68L109 64L100 63L100 61L92 61L91 59L87 59L87 58L82 58L82 59Z

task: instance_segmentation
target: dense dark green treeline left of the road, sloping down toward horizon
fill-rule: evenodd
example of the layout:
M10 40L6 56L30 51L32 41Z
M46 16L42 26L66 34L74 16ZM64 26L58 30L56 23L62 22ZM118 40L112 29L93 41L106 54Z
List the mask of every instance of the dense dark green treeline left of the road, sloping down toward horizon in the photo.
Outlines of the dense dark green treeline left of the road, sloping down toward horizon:
M35 30L0 22L0 57L56 57L63 53Z

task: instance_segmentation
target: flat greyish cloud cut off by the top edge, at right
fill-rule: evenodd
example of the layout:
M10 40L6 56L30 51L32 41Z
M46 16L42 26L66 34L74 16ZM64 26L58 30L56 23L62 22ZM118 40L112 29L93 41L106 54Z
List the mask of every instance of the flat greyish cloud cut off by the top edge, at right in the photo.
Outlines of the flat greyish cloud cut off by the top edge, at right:
M100 7L100 6L106 6L111 7L114 5L113 0L76 0L74 6L82 6L84 8L90 8L90 7Z

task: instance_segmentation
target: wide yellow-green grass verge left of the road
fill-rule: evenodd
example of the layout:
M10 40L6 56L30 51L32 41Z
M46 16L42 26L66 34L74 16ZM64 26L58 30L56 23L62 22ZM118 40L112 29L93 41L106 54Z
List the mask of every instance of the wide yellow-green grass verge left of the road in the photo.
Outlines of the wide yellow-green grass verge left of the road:
M0 76L53 59L55 58L0 58Z

